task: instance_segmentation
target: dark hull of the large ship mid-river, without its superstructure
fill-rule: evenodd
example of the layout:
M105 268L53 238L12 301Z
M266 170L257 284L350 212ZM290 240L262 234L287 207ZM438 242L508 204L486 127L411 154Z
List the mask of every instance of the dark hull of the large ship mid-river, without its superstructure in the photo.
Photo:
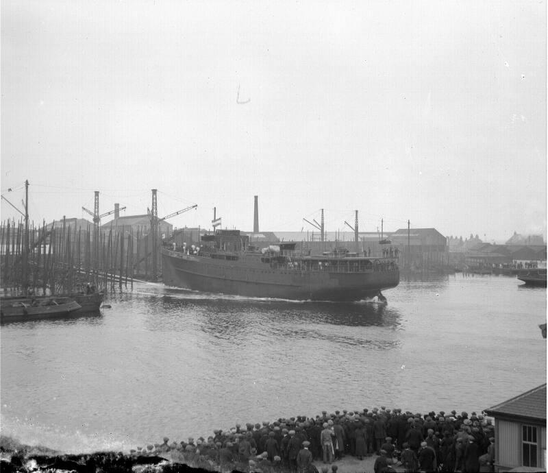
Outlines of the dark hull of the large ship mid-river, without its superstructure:
M194 291L289 300L356 301L396 287L399 270L362 273L271 269L260 263L162 250L164 284Z

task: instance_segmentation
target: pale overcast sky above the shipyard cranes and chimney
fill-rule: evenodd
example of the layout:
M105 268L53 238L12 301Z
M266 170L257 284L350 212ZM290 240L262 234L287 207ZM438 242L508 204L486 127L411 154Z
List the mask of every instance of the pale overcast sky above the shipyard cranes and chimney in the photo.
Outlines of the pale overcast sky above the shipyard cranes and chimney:
M1 0L1 193L546 237L545 1ZM12 191L9 191L12 189ZM19 214L4 199L1 219ZM102 223L112 217L104 217ZM346 228L348 230L348 228Z

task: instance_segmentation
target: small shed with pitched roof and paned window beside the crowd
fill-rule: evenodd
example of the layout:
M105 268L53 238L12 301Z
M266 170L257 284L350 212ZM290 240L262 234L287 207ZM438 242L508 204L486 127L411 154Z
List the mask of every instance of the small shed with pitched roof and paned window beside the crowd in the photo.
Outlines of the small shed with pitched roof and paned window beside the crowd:
M495 471L546 470L546 383L485 413L495 417Z

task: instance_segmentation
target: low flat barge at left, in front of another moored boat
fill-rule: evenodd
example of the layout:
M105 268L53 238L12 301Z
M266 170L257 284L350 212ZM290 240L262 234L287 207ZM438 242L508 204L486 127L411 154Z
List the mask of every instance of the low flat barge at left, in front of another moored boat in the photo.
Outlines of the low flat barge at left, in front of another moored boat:
M82 306L71 298L1 298L0 319L47 319L73 313L79 308Z

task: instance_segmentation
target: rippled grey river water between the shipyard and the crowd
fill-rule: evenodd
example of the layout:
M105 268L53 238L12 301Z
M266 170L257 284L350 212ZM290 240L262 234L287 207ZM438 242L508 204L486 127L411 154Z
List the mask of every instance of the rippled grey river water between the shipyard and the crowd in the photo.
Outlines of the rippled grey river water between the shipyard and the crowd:
M402 280L388 306L137 284L77 319L5 324L1 431L66 452L323 410L482 411L546 381L546 290Z

